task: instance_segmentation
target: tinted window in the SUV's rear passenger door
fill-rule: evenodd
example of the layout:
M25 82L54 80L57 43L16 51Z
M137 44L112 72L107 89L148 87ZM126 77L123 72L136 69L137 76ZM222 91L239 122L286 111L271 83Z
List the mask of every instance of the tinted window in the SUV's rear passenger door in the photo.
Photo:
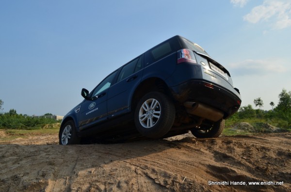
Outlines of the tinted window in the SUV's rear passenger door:
M123 68L120 71L120 74L118 75L117 82L121 81L122 79L125 79L131 74L134 74L135 72L139 71L142 68L142 59L137 58L133 61L129 62L127 65L123 66Z

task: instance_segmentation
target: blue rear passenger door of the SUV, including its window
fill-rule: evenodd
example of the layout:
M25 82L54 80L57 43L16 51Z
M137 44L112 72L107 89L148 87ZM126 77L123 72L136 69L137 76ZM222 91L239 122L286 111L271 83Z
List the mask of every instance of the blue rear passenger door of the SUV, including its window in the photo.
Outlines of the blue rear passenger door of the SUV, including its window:
M116 83L108 91L108 118L130 111L131 95L141 82L142 76L143 56L133 59L121 68Z

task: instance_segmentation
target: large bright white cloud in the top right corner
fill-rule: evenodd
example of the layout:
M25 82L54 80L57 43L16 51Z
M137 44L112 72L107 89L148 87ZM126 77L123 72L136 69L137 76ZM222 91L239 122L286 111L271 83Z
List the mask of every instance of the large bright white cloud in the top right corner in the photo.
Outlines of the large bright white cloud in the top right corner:
M271 23L275 30L291 27L291 3L278 0L265 0L262 5L256 6L243 16L243 20L250 23L266 21Z

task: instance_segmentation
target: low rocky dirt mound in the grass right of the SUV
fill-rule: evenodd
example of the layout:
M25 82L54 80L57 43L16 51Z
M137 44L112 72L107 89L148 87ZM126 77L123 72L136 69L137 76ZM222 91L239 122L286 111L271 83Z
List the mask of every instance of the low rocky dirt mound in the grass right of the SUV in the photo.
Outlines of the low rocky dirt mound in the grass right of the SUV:
M254 123L254 125L246 122L235 123L232 131L250 132L250 133L280 133L282 130L269 123Z

